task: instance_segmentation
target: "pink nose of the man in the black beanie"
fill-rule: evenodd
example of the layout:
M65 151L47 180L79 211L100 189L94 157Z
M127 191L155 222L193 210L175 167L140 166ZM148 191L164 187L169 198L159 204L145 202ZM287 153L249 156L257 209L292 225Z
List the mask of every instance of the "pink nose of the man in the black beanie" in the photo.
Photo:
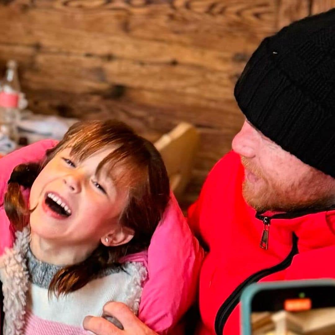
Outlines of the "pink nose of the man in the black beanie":
M232 140L232 149L241 156L253 158L257 151L258 136L257 130L245 121Z

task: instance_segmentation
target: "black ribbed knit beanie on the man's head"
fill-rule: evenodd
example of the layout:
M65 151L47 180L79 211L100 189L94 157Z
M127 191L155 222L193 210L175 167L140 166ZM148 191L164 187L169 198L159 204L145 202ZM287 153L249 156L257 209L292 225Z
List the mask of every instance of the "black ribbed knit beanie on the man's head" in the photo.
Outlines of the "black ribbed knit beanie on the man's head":
M263 40L234 94L265 136L335 178L335 9Z

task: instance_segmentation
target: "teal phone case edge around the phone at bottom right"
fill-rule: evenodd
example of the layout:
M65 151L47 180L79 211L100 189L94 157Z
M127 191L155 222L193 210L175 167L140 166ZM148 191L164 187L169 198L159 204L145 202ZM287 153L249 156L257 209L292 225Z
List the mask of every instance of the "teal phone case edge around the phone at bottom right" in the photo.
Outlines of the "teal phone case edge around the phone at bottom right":
M252 335L251 329L251 302L254 295L260 290L271 290L277 288L289 287L305 287L305 286L320 286L330 285L335 286L334 279L307 279L307 280L286 280L286 281L273 281L254 283L247 286L241 295L241 329L242 335Z

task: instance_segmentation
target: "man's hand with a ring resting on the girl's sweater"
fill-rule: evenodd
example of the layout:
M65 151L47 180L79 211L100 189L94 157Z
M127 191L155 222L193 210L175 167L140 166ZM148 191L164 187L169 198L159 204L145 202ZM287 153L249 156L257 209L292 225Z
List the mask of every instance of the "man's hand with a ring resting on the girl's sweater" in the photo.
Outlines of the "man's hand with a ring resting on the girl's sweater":
M142 323L134 313L123 303L107 303L104 315L118 319L123 330L114 326L104 318L87 316L83 321L83 327L97 335L157 335L154 331Z

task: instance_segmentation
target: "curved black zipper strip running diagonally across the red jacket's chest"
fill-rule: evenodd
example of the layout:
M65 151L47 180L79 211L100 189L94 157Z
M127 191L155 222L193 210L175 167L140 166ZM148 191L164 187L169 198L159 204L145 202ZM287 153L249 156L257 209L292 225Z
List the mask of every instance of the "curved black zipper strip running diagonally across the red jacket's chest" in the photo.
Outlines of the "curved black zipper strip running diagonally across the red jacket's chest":
M223 332L223 327L230 315L230 313L233 311L233 309L237 306L240 300L240 296L242 293L242 290L247 286L250 285L251 283L257 282L260 279L262 279L265 276L268 276L272 273L281 271L286 269L290 264L292 263L293 256L297 254L298 248L297 248L297 237L293 233L293 245L290 253L288 256L279 264L268 268L268 269L263 269L261 271L258 271L248 277L243 283L241 283L230 295L229 297L225 300L223 305L219 308L216 317L215 317L215 333L217 335L222 335Z

